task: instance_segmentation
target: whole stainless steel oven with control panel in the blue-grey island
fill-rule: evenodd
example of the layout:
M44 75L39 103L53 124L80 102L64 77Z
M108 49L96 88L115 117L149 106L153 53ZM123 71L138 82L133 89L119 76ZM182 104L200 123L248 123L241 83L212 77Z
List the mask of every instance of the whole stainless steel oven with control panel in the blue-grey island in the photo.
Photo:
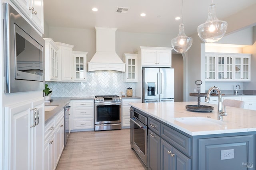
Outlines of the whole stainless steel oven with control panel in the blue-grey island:
M131 110L131 148L135 150L141 160L148 166L148 118Z

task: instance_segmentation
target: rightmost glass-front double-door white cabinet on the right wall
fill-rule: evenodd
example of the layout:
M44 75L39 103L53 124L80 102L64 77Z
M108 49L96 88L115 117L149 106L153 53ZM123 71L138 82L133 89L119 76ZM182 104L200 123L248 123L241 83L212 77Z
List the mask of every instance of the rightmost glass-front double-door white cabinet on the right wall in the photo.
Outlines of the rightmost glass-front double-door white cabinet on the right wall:
M251 80L251 55L242 54L234 55L234 80L235 81L250 81Z

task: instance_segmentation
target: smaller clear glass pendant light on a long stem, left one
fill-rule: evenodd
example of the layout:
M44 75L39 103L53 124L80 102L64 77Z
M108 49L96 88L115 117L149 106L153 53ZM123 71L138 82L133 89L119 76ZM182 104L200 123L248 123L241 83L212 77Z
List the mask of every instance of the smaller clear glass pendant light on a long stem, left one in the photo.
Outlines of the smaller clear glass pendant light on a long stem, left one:
M172 39L172 47L178 53L185 53L186 51L188 51L193 41L191 37L188 37L185 34L182 15L183 15L183 0L181 0L181 24L180 24L179 34L176 38Z

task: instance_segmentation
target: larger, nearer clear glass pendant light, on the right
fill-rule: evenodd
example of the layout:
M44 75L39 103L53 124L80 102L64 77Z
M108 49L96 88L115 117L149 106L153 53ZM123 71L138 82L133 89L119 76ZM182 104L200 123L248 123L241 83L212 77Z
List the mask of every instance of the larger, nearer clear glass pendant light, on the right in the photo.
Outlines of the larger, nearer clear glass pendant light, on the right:
M215 4L210 4L208 19L197 27L198 36L206 43L220 40L227 31L228 23L216 17Z

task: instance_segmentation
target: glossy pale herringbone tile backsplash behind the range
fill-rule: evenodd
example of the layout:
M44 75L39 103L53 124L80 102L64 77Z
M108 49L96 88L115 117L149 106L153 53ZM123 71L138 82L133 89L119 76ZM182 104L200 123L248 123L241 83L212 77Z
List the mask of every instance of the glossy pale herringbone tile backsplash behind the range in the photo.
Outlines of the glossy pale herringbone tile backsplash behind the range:
M118 95L135 83L124 82L124 73L110 70L87 72L87 82L46 82L52 88L51 97L86 97L96 95Z

